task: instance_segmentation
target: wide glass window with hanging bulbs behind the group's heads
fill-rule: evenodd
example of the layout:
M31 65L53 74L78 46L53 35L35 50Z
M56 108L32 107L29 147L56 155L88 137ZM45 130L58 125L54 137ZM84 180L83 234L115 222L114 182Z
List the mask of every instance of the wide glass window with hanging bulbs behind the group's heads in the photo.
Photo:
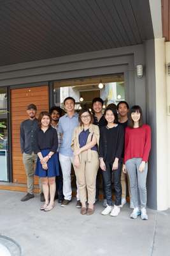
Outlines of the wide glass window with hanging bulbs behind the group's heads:
M106 108L108 104L118 104L120 100L125 100L124 75L57 81L54 83L53 95L55 105L61 108L64 108L63 102L66 97L73 97L76 100L76 109L81 109L82 106L91 108L92 99L101 97Z

